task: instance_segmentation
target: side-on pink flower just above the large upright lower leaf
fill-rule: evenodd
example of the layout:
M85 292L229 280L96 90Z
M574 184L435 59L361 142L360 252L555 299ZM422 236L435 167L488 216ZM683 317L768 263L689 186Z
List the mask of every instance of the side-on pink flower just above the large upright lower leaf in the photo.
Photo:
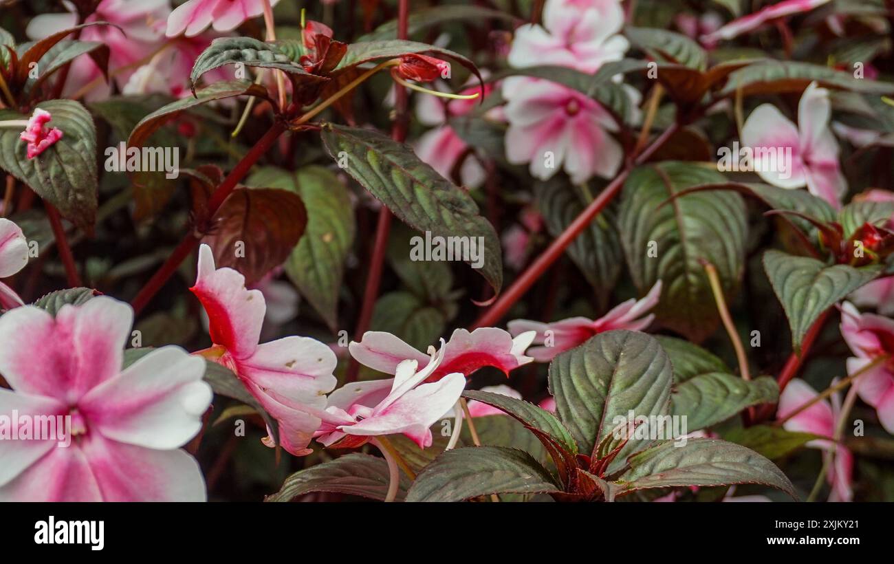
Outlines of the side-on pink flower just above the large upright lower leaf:
M513 335L526 331L536 331L535 344L543 347L529 349L527 354L534 357L537 362L549 362L559 353L574 349L590 337L613 329L627 329L628 331L642 331L652 324L654 315L643 317L643 314L658 304L662 294L662 281L655 282L652 290L645 298L636 300L628 299L624 303L614 307L611 311L599 319L592 320L586 317L569 317L551 324L544 324L527 319L510 321L508 328Z

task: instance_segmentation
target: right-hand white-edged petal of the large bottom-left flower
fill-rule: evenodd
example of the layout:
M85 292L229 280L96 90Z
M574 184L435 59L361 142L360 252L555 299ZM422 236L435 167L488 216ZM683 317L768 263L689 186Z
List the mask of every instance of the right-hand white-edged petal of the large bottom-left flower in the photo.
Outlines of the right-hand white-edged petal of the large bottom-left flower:
M198 434L211 405L205 360L180 347L155 349L78 403L89 430L149 449L176 449Z

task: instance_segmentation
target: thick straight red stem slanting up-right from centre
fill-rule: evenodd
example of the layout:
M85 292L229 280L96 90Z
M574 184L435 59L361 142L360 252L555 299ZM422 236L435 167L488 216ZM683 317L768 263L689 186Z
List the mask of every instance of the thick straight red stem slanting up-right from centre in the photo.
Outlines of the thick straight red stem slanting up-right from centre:
M611 200L618 195L621 187L624 185L624 181L627 180L628 174L634 167L645 163L645 161L648 160L656 150L662 147L664 142L670 139L671 135L678 129L679 124L673 123L671 127L664 130L661 135L654 139L652 144L649 147L646 147L643 153L637 156L637 158L631 159L631 162L624 168L624 170L621 171L621 173L611 181L611 183L606 186L588 206L586 206L584 211L565 228L565 231L561 232L559 237L552 241L550 246L527 267L525 272L519 275L519 278L512 283L509 289L502 293L493 306L491 306L484 315L478 318L475 324L472 325L472 329L477 329L478 327L492 327L497 324L497 322L502 319L502 316L506 315L506 312L509 311L510 307L515 305L515 302L517 302L525 292L531 288L534 282L536 282L537 279L540 278L550 266L552 266L552 263L561 257L562 253L565 252L565 249L568 248L572 241L578 238L578 235L586 229L596 215L599 215L605 206L608 206L611 203Z

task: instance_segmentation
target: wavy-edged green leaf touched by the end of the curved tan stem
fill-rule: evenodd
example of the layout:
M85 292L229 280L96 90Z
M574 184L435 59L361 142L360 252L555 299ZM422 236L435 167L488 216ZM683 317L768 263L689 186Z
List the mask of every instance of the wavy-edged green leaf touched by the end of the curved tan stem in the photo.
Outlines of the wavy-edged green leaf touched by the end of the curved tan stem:
M770 376L746 382L739 376L714 372L697 375L671 393L671 414L686 417L692 433L726 421L745 408L775 403L780 389Z

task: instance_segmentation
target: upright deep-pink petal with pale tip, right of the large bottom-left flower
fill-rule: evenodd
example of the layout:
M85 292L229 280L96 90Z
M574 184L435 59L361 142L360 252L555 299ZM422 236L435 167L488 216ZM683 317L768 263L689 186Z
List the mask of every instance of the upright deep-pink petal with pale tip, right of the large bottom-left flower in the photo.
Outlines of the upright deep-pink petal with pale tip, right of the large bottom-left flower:
M251 356L264 324L264 294L247 290L245 276L232 268L215 269L215 257L205 244L198 249L198 276L190 290L205 307L211 341L234 358Z

